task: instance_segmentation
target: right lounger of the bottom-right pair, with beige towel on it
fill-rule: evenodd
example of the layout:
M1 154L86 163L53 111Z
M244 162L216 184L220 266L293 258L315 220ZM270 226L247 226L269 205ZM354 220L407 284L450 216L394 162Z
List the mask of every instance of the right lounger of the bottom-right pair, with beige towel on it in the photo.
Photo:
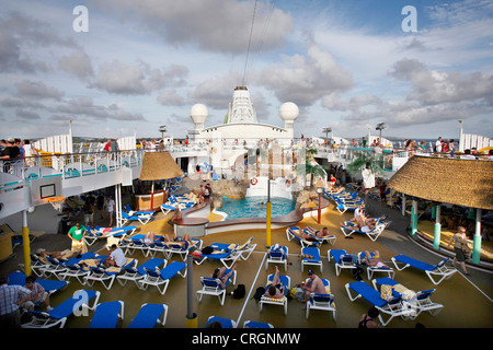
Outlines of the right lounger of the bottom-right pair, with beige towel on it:
M413 307L416 312L415 315L411 315L411 319L416 318L424 311L427 311L431 315L436 316L444 307L444 305L434 303L431 300L436 289L428 289L419 292L409 291L405 287L389 277L377 278L372 282L375 288L377 288L377 285L381 287L385 284L391 285L392 294L394 296L405 299L410 303L411 307Z

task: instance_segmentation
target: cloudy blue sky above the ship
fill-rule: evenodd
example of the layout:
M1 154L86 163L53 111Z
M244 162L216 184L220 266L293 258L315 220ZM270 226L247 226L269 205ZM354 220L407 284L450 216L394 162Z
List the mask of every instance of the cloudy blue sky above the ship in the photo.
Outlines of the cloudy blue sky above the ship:
M183 138L242 84L295 136L493 138L493 1L2 1L0 138Z

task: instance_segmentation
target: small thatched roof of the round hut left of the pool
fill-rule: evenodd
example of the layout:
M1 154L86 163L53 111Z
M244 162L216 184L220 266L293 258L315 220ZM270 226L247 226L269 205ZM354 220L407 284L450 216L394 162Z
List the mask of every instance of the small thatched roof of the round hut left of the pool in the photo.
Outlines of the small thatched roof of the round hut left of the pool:
M183 172L169 152L146 152L144 154L140 180L160 180L179 176L183 176Z

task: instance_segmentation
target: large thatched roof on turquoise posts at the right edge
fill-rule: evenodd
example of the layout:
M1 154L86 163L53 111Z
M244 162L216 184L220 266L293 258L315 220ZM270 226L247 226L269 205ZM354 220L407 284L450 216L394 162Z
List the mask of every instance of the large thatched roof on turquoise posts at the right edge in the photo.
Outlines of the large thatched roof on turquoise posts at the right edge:
M493 210L493 162L411 158L388 182L406 196Z

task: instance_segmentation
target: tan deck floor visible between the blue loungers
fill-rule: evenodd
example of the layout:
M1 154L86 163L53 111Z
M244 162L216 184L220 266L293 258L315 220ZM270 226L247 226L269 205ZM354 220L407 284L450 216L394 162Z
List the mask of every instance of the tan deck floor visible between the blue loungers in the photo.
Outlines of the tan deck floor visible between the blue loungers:
M184 183L186 190L186 182ZM406 233L409 226L409 217L402 214L387 206L382 206L376 200L369 199L368 211L372 217L387 213L392 224L379 236L376 242L370 241L366 235L353 234L351 240L345 238L340 230L340 223L349 219L353 213L340 214L330 205L329 210L322 214L320 224L317 222L317 213L301 220L298 225L300 228L312 226L321 229L328 226L330 232L336 236L334 245L323 244L320 248L322 256L322 271L318 267L313 268L319 277L329 279L331 292L335 298L336 318L332 318L332 314L323 311L311 311L307 319L302 310L303 304L297 300L288 302L287 315L284 315L283 308L276 305L265 305L259 311L259 305L252 299L257 287L266 284L267 276L274 273L275 264L268 265L265 269L266 258L266 234L264 230L242 230L229 231L223 233L209 234L204 237L203 246L211 243L237 243L242 244L253 236L253 243L256 247L246 260L239 259L237 262L237 283L244 284L246 295L243 299L236 300L226 298L225 305L220 305L217 296L204 295L202 302L196 299L196 291L200 289L199 277L208 277L215 268L221 267L219 261L206 260L202 265L193 265L193 312L197 315L197 328L203 328L209 316L220 316L232 319L239 328L243 327L245 320L256 320L270 323L276 329L278 328L356 328L362 314L365 314L370 304L365 300L358 299L352 302L346 293L345 284L354 282L355 279L351 270L342 270L337 277L335 273L334 261L328 260L329 249L345 249L347 253L357 254L363 250L374 252L378 249L385 261L389 261L391 257L403 254L414 257L419 260L435 265L444 257L431 252L420 245L414 238ZM96 215L95 215L96 217ZM145 234L153 231L156 234L172 234L173 228L169 223L171 213L164 215L162 212L156 213L154 218L146 225L139 225L136 234ZM72 219L74 222L77 218ZM83 219L81 218L81 222ZM107 219L95 218L95 224L107 224ZM272 230L272 244L278 243L289 248L289 265L287 271L284 271L282 265L279 270L282 275L290 277L291 287L300 283L308 275L308 267L301 271L301 262L299 258L300 245L294 241L288 241L285 229ZM103 240L89 247L90 252L106 255ZM66 235L45 234L35 238L31 244L31 252L37 248L49 250L64 250L70 247L69 240ZM2 275L8 275L19 270L19 264L22 264L22 247L15 248L15 256L1 262L0 269ZM139 265L150 257L145 257L141 253L136 252L131 257L138 259ZM174 255L172 260L181 260L180 256ZM170 262L170 261L169 261ZM424 325L426 328L483 328L488 329L493 326L491 314L493 311L492 295L493 283L491 271L479 270L468 267L470 276L463 276L460 267L458 271L448 280L444 280L438 285L434 285L428 277L421 270L408 268L397 271L394 280L413 291L421 291L436 288L436 292L432 300L435 303L443 304L444 307L436 316L432 316L423 312L414 320L404 320L400 317L393 318L386 328L414 328L416 324ZM368 281L366 271L362 275L363 280ZM377 276L378 277L378 276ZM231 292L236 285L228 285L228 292ZM113 283L111 290L106 290L101 283L96 282L93 287L81 285L76 279L71 279L68 287L51 295L51 306L56 306L71 295L76 290L81 288L95 289L101 292L100 303L110 301L124 301L125 317L118 323L117 328L128 327L131 319L138 313L140 306L145 303L164 303L169 306L168 317L164 328L185 328L186 327L186 278L175 276L171 279L164 295L161 295L156 288L149 287L146 291L140 290L135 283L127 283L125 287L119 285L117 281ZM70 317L66 323L66 328L87 328L92 319L93 312L88 317ZM157 326L160 327L160 326Z

